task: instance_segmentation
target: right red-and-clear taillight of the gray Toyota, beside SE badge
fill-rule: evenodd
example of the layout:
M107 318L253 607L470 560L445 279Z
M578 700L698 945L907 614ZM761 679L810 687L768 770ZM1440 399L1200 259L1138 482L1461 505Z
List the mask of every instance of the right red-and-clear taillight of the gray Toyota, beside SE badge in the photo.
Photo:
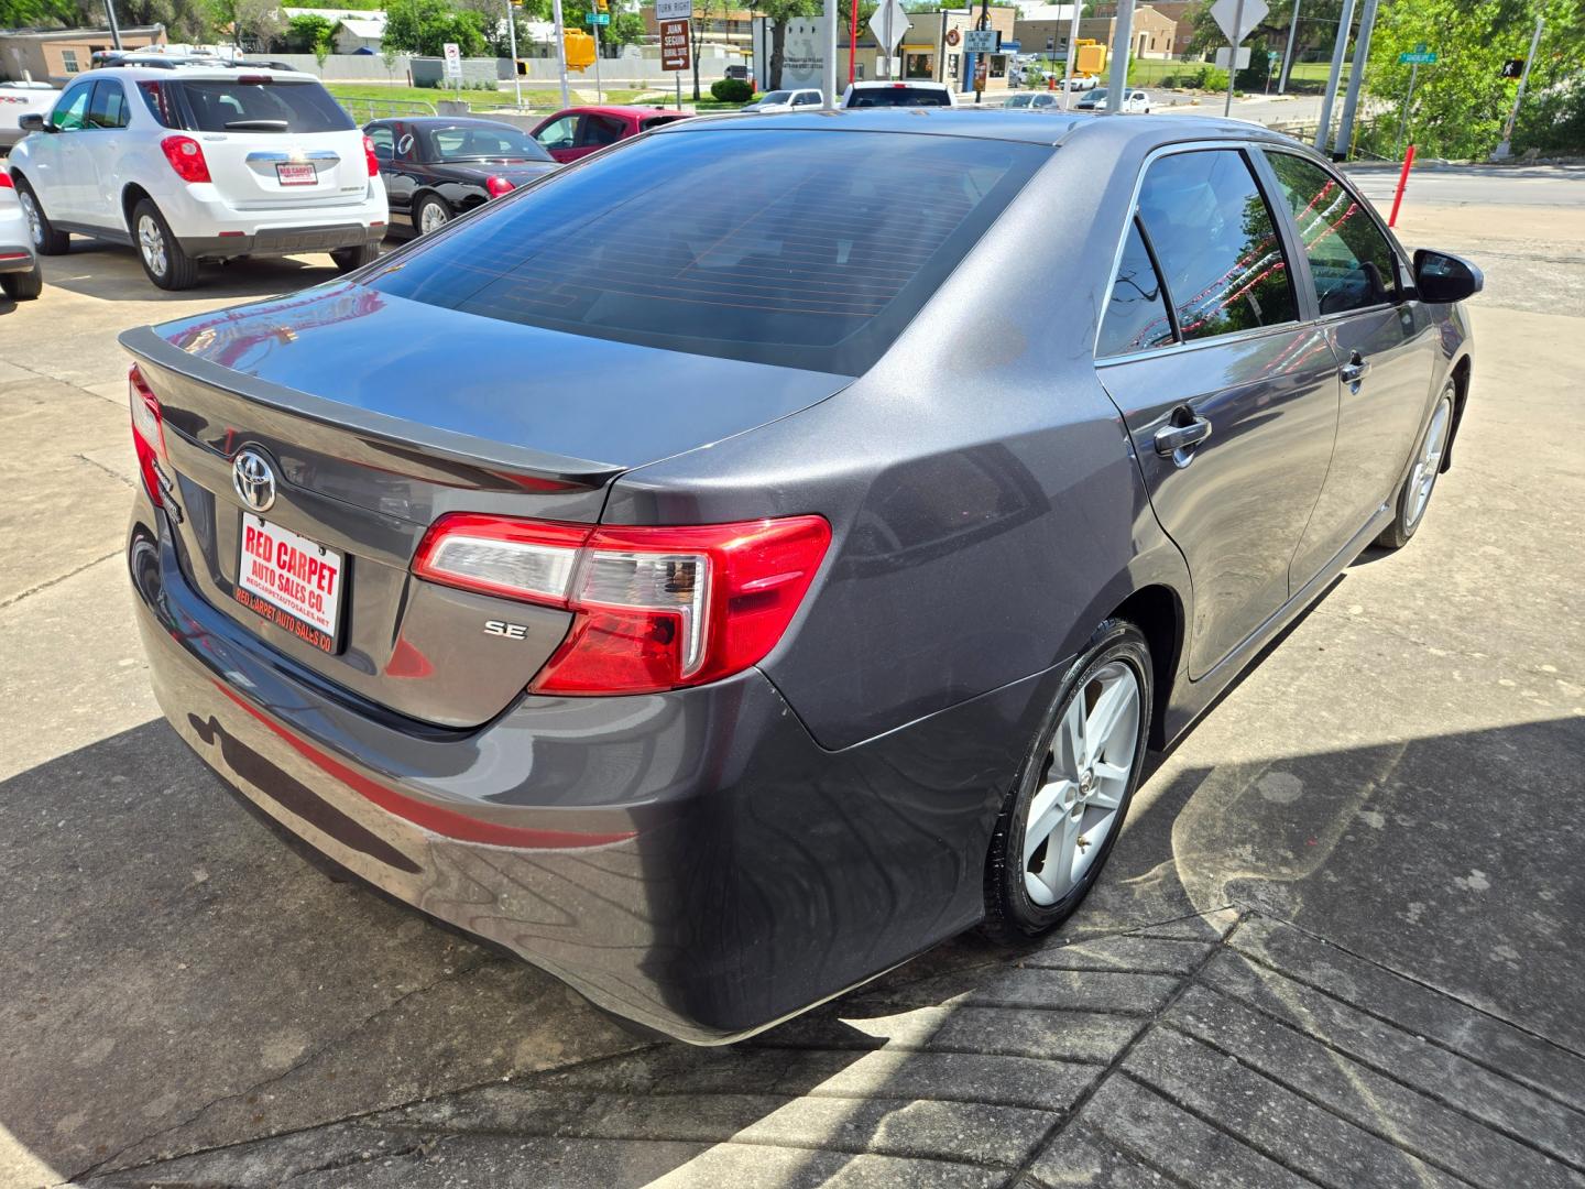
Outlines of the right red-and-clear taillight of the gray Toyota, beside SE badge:
M574 612L534 693L631 694L702 685L775 648L831 544L816 515L735 525L558 525L458 512L412 572Z

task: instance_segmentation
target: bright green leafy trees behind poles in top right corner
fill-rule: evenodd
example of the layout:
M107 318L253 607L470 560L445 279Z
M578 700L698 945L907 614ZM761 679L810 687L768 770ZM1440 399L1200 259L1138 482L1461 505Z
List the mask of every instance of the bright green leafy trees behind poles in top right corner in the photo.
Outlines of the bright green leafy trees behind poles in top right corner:
M1580 0L1395 0L1382 6L1371 38L1371 62L1365 76L1369 94L1393 113L1409 90L1411 67L1398 55L1419 44L1436 52L1436 65L1420 67L1407 140L1436 157L1484 159L1496 147L1503 124L1514 106L1515 79L1501 78L1503 63L1523 59L1536 30L1545 30L1536 51L1525 109L1514 149L1585 147L1579 136L1585 124L1580 109L1585 73L1585 10ZM1569 132L1572 127L1574 133ZM1390 152L1396 119L1377 125L1368 147ZM1560 143L1563 141L1563 143Z

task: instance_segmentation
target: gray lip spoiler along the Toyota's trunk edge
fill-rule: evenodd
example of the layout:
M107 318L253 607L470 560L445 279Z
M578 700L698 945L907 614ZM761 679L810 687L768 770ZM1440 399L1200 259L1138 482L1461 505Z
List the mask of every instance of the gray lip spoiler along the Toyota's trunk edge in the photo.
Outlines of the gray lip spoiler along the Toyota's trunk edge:
M453 463L466 468L479 468L496 476L521 477L537 482L550 482L566 487L604 487L626 471L617 463L601 463L591 458L572 458L567 455L547 453L526 445L496 442L487 438L439 430L423 422L391 417L384 412L372 412L352 404L314 396L296 388L287 388L271 380L262 380L243 371L233 371L212 360L190 355L170 339L162 338L154 327L136 327L122 331L117 339L127 352L154 368L182 376L219 392L235 393L266 409L303 417L331 430L357 434L363 439L363 447L384 458L368 461L371 466L390 466L401 461L404 466L414 463Z

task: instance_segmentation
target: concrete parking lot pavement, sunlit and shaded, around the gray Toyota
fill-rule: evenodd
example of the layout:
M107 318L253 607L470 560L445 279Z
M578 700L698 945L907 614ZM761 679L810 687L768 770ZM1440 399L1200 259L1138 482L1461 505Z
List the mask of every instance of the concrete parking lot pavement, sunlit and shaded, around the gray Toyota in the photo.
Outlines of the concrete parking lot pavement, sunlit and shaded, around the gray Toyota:
M334 271L46 258L0 298L0 1184L1585 1184L1585 170L1417 174L1400 235L1487 270L1415 541L1160 759L1059 939L731 1049L327 878L176 739L116 335Z

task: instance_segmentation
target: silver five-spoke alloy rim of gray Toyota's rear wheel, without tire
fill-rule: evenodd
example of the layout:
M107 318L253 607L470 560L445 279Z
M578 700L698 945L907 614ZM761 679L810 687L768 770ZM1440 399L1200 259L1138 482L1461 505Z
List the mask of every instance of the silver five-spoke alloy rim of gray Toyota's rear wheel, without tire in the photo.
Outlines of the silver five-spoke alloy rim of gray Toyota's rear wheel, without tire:
M1122 661L1068 702L1024 826L1024 889L1057 904L1084 880L1117 826L1140 750L1140 679Z

